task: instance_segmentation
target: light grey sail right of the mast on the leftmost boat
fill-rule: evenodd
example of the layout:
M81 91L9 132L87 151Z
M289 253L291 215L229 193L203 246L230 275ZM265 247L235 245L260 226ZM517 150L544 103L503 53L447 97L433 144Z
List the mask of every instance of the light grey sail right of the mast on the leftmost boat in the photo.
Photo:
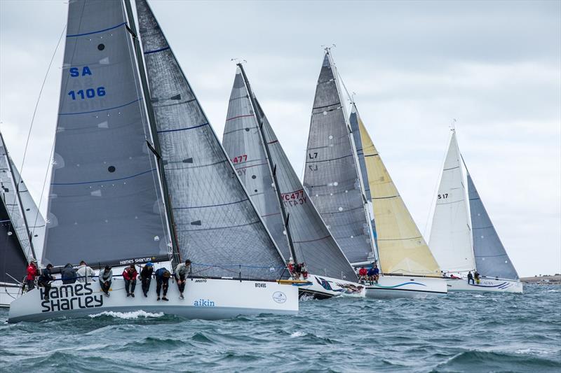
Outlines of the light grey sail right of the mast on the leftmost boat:
M25 185L18 167L15 166L11 158L9 158L12 167L15 182L18 183L18 194L23 213L25 215L25 222L27 223L27 230L29 230L29 239L32 241L34 258L41 258L43 256L43 244L45 242L45 219L39 211L39 207L35 203L31 193Z

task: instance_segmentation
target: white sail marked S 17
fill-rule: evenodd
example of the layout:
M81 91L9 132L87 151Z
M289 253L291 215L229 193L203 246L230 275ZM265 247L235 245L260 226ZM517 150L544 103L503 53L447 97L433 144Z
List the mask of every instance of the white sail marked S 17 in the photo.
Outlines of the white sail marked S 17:
M452 132L438 186L429 241L433 255L445 272L475 269L467 208L460 152L456 132Z

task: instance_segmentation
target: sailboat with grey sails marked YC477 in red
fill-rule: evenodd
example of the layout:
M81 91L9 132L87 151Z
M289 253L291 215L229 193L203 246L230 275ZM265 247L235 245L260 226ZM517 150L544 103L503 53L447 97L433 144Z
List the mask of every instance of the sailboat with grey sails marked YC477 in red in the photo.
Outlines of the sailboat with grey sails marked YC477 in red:
M222 143L285 260L304 262L300 295L364 297L353 267L313 206L237 64ZM290 258L290 259L289 259Z

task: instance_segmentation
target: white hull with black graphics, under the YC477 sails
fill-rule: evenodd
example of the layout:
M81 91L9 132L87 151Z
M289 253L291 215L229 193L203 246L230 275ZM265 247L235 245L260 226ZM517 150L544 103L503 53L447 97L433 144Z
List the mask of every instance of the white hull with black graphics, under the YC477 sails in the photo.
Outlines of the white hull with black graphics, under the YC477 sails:
M306 279L311 284L299 286L300 297L314 297L316 299L326 299L332 297L346 296L363 298L366 295L366 288L363 284L333 279L327 276L308 275Z

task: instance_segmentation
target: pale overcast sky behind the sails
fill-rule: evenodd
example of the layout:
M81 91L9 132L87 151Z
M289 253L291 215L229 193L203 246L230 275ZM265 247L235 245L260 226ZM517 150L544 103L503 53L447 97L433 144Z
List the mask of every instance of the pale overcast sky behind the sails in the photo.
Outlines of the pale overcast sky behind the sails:
M321 45L334 43L339 73L421 232L428 238L456 118L460 150L520 276L561 273L561 1L150 3L221 140L230 59L241 57L302 175ZM18 167L66 17L65 1L0 0L0 130ZM36 200L63 44L22 169Z

